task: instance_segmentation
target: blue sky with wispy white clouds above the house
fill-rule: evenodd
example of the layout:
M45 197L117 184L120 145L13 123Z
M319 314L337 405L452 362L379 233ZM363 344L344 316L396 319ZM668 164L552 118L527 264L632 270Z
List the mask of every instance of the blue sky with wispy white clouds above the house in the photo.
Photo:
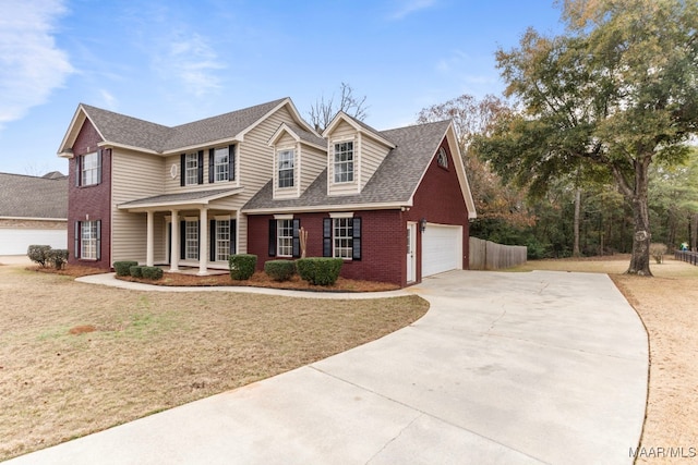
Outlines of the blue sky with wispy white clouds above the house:
M345 82L377 130L500 95L498 47L558 34L553 0L0 0L0 172L67 172L80 102L177 125Z

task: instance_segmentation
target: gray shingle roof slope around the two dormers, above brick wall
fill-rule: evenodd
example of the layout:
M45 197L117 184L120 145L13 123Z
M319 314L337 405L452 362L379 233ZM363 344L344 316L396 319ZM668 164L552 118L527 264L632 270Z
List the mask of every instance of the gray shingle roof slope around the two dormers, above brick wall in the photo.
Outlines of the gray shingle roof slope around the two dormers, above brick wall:
M406 204L417 189L449 124L449 121L440 121L376 132L393 142L396 148L388 152L360 194L328 196L327 170L324 170L299 198L275 200L272 182L268 182L243 210L298 208L300 211L318 206Z

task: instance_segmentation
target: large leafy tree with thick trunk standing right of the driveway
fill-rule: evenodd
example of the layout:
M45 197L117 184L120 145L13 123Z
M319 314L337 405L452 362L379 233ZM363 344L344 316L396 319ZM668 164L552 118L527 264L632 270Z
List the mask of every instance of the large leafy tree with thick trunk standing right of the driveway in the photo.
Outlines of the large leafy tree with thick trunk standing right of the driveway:
M544 192L583 166L613 176L634 212L627 272L651 276L649 168L685 159L698 129L698 3L564 0L565 35L529 29L498 50L522 111L478 143L505 180Z

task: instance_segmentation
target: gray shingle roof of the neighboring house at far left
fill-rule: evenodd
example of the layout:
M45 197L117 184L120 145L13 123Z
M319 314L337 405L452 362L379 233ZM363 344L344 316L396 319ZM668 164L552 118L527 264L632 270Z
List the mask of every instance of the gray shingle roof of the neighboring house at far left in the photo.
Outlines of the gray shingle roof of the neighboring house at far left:
M68 218L68 176L0 173L0 217Z

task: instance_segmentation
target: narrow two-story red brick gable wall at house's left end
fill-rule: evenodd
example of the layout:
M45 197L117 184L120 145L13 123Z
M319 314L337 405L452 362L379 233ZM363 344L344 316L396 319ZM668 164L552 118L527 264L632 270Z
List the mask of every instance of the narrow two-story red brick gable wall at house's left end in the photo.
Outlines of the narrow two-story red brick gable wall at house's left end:
M111 150L101 150L101 168L99 184L80 186L81 176L79 160L83 155L99 150L97 144L101 137L85 120L73 144L74 157L70 160L69 187L68 187L68 249L70 250L70 264L109 269L111 267ZM84 260L76 258L75 254L75 223L79 221L100 221L101 232L99 241L98 260Z

